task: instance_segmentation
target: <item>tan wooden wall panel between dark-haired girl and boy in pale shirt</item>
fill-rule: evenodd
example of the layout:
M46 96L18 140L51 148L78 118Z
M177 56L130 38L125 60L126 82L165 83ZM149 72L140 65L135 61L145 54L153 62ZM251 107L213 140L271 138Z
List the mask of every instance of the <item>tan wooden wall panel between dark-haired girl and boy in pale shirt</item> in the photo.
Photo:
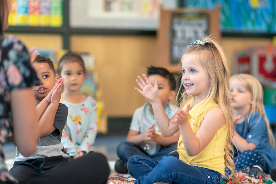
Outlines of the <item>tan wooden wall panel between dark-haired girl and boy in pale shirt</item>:
M131 117L144 98L134 89L137 75L157 64L155 36L71 36L71 50L95 56L109 117Z

